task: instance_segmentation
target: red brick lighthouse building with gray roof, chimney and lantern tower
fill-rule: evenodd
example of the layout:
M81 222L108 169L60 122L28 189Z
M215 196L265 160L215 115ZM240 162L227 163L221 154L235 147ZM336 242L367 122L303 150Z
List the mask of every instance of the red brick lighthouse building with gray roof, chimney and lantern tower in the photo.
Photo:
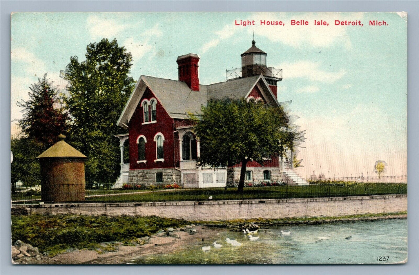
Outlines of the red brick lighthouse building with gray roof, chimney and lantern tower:
M241 54L241 68L228 73L224 82L199 84L197 54L177 58L178 80L140 77L117 122L128 133L116 135L121 144L121 175L114 188L124 183L173 182L184 188L222 187L240 178L240 164L216 170L197 167L199 139L188 113L200 113L201 106L211 99L253 98L280 104L277 82L282 80L282 70L266 67L267 54L255 44L252 41ZM129 142L129 164L124 163L125 142ZM292 159L276 156L266 159L263 166L249 161L246 169L247 182L281 181L286 172L294 184L307 184L292 171Z

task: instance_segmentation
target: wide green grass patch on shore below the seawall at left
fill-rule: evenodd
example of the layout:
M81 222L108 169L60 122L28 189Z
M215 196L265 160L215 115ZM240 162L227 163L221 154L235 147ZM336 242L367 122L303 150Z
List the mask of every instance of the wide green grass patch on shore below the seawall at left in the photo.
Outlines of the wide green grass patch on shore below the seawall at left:
M12 242L19 239L51 256L67 249L111 251L111 244L103 247L100 243L140 242L139 238L160 229L186 224L184 220L157 216L12 215Z

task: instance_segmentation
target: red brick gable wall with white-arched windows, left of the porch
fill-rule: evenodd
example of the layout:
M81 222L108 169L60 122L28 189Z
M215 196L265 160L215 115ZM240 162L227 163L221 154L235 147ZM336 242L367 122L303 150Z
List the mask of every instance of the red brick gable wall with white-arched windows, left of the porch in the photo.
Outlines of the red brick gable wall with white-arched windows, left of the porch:
M161 103L158 101L156 105L156 123L149 123L141 125L143 122L143 108L141 102L143 99L150 100L155 98L155 95L147 88L142 96L134 115L129 121L129 169L151 169L151 168L172 168L174 166L174 138L173 138L173 118L171 118L166 110L164 110ZM150 107L149 107L150 111ZM150 113L151 117L151 113ZM162 133L164 136L164 162L154 162L156 156L156 142L154 136L157 133ZM137 163L138 149L137 138L144 135L147 139L145 143L145 163ZM178 142L178 141L177 141Z

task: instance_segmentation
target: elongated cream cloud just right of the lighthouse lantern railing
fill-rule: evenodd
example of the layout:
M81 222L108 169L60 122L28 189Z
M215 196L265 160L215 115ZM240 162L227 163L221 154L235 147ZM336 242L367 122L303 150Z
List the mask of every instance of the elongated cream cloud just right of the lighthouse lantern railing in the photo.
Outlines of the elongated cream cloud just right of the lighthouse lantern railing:
M310 81L331 83L346 75L344 69L340 69L339 72L326 72L321 69L320 63L308 60L285 62L277 68L282 68L283 76L287 79L308 78Z

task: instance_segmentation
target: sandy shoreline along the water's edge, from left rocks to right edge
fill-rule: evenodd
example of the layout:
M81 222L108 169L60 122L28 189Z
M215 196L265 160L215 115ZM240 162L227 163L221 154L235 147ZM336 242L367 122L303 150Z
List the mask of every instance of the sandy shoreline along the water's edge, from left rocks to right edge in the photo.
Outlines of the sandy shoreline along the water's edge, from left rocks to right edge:
M325 224L325 223L344 223L354 221L375 221L381 219L407 218L406 212L364 214L340 217L316 217L316 218L284 218L284 219L251 219L251 220L232 220L232 221L196 221L194 227L197 232L193 235L186 231L176 231L176 236L166 234L153 234L148 237L145 244L127 246L116 242L116 251L98 252L97 250L80 249L63 252L54 257L42 256L40 260L34 257L12 260L15 264L29 265L58 265L58 264L129 264L138 257L153 254L163 254L174 252L181 249L185 244L200 239L208 239L214 235L214 231L222 229L238 228L244 222L254 222L262 228L290 224ZM191 222L192 224L192 222ZM166 232L165 232L166 233Z

